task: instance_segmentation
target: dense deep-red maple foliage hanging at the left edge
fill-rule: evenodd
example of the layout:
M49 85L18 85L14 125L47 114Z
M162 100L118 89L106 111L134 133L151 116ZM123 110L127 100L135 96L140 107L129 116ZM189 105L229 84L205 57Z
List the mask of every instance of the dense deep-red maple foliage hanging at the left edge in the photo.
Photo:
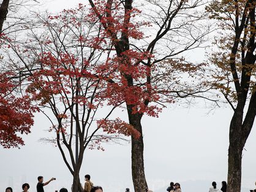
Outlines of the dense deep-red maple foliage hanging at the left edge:
M28 96L17 97L15 85L9 77L12 73L0 74L0 145L4 148L24 145L20 134L30 133L34 124L33 113L36 107L31 105Z

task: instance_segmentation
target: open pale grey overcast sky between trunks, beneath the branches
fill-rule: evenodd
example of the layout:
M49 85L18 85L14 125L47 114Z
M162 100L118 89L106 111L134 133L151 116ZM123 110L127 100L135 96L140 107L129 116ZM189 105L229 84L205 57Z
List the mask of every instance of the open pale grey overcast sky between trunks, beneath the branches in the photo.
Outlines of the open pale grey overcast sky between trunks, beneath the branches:
M45 8L62 10L81 1L48 1ZM198 53L195 53L198 54ZM203 103L203 101L198 101ZM116 111L113 116L127 119L126 113ZM179 182L183 192L209 190L216 181L220 188L227 180L228 128L232 109L227 107L211 110L203 104L193 106L170 105L159 118L143 117L145 142L145 174L149 188L154 192L166 191L171 181ZM0 147L0 191L12 186L13 191L22 191L21 185L29 183L30 192L36 191L37 177L45 182L56 180L45 186L45 191L66 187L70 191L72 177L58 148L39 142L40 138L53 135L47 130L50 122L42 114L36 114L31 134L24 136L21 149ZM242 192L255 188L256 130L252 128L243 151ZM84 175L90 174L94 185L105 192L121 192L129 187L133 190L130 143L124 145L105 144L105 151L86 150L80 171L81 183Z

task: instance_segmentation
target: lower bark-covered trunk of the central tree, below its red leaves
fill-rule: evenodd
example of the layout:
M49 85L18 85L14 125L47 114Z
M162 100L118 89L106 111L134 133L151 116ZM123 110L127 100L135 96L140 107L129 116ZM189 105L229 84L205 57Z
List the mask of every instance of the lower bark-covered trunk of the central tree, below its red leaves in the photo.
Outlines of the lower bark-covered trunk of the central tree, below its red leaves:
M134 191L143 192L148 187L146 183L145 171L144 171L144 144L143 134L141 127L141 114L132 114L132 109L128 106L129 123L134 128L140 131L140 138L136 139L132 136L132 181L134 182Z

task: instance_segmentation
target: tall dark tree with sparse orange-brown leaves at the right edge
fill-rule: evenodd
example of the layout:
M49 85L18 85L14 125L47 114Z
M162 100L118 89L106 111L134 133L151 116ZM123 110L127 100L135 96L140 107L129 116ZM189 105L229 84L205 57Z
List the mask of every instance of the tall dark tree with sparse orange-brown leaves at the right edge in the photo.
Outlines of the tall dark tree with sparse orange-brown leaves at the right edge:
M230 32L220 35L219 40L223 40L219 43L221 52L213 57L213 63L221 68L219 77L225 79L221 81L222 88L218 87L220 84L217 88L233 109L228 147L228 192L241 191L243 149L256 115L255 5L254 0L213 1L208 9L211 16L223 24L222 29ZM231 11L226 14L228 9Z

